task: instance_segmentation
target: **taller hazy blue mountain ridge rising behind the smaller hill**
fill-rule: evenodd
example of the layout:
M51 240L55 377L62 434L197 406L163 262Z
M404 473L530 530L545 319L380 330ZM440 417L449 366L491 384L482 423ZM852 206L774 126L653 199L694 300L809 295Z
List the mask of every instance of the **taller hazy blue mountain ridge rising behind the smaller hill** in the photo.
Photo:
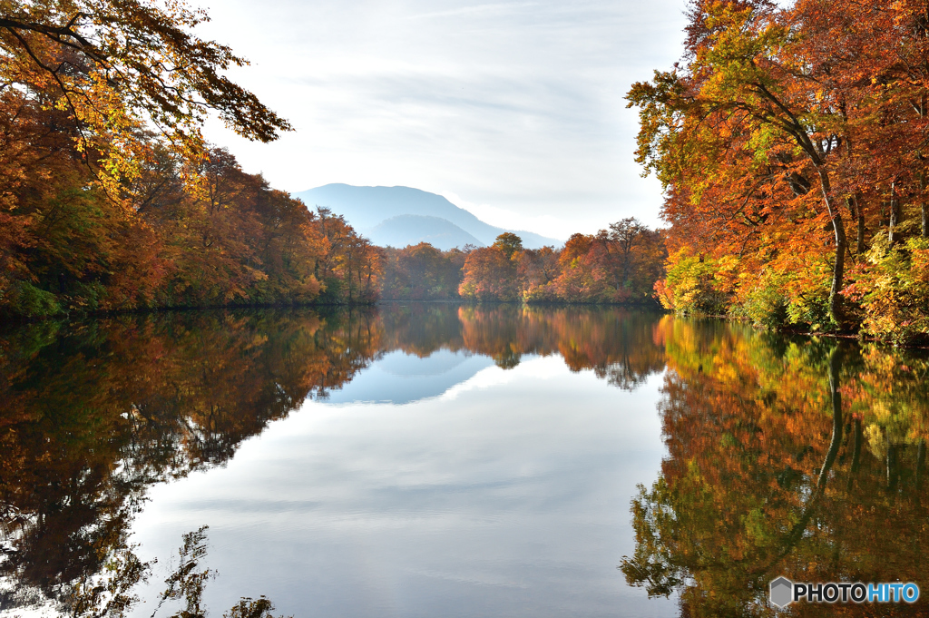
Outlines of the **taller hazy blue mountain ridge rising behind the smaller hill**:
M355 229L367 235L391 217L419 215L445 219L477 238L481 244L492 244L504 231L517 234L527 248L561 244L554 238L546 238L530 231L504 230L491 226L464 208L451 204L441 195L410 187L353 187L330 184L294 193L294 197L303 200L310 208L326 206L332 209L335 214L345 216ZM412 220L408 222L412 223ZM435 233L442 232L436 230Z

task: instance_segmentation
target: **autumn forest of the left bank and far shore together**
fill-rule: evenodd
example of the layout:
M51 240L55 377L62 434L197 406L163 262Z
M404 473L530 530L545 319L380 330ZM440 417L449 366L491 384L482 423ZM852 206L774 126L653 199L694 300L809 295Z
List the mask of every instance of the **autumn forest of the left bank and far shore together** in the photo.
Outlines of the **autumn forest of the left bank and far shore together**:
M0 315L378 298L653 302L659 232L633 219L564 250L375 247L203 138L290 125L223 76L246 64L144 0L0 2ZM315 204L309 204L314 206ZM383 279L383 280L382 280Z

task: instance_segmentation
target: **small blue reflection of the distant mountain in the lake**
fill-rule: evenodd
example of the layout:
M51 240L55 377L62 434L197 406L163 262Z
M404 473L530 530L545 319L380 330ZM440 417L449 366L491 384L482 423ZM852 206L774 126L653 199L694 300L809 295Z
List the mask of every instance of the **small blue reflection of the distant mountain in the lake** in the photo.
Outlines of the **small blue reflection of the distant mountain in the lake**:
M456 384L470 379L493 361L481 355L439 349L426 357L393 351L373 362L327 401L376 401L409 403L438 397Z

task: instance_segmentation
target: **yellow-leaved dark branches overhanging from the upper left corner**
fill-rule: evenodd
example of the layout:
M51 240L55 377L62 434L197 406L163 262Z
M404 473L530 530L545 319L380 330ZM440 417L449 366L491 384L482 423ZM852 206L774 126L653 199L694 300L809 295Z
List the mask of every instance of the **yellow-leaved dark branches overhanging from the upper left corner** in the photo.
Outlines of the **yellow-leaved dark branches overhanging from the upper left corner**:
M185 158L203 152L209 112L245 138L269 141L290 129L222 74L247 61L191 32L206 20L184 3L4 0L0 80L66 112L75 148L115 191L147 154L141 129L157 128Z

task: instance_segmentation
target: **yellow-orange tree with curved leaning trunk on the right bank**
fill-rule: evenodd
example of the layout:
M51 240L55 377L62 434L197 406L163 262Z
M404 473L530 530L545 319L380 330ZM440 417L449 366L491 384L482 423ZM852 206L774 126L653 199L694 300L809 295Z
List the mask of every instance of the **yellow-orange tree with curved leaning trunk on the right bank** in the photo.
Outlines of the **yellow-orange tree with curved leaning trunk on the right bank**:
M641 118L636 156L697 207L710 206L700 202L703 188L730 173L724 158L730 149L747 153L737 172L743 178L766 176L798 197L816 187L820 218L833 232L829 311L841 325L844 205L831 175L844 130L835 93L818 85L788 17L766 2L698 4L691 18L706 32L688 49L687 68L656 72L653 82L629 92ZM767 162L783 171L763 175ZM749 189L744 201L751 196Z

